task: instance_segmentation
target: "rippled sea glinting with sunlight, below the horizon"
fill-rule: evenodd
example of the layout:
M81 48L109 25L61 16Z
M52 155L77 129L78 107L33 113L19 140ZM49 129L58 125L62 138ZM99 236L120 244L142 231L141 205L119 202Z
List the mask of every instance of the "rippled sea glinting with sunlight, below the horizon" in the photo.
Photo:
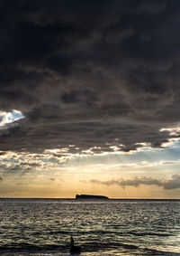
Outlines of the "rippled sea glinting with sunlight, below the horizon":
M180 255L180 200L0 199L0 253Z

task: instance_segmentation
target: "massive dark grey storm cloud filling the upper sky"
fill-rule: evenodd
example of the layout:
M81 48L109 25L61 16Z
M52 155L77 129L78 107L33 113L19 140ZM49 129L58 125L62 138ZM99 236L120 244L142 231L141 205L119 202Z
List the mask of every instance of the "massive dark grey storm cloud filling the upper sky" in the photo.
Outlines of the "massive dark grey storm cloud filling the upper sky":
M1 1L0 110L25 119L0 129L0 150L161 147L159 129L179 121L179 11L175 0Z

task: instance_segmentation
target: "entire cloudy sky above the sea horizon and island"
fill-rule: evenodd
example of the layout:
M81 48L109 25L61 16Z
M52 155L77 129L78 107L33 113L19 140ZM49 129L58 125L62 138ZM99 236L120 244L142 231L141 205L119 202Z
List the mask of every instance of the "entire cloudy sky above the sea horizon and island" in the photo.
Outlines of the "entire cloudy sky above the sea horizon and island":
M0 1L0 197L180 198L179 12Z

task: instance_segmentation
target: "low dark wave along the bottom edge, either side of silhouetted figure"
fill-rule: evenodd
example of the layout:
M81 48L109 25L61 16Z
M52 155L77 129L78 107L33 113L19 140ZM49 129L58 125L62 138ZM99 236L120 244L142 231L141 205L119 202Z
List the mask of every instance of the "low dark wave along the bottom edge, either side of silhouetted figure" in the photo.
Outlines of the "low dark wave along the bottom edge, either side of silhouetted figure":
M92 255L98 251L103 252L109 251L119 251L121 255L172 255L179 256L180 253L175 253L171 251L158 251L152 250L149 248L141 248L134 244L127 244L121 242L83 242L82 246L82 255L85 255L85 252L92 252ZM11 243L6 244L0 247L1 255L9 254L33 254L33 255L47 255L47 254L57 254L58 255L69 255L69 244L67 245L53 245L53 244L44 244L44 245L34 245L31 243ZM109 254L112 255L113 253ZM116 254L116 253L114 253ZM89 255L89 254L88 254ZM95 254L94 254L95 255ZM100 255L100 254L99 254ZM107 254L106 254L107 255ZM118 255L118 254L116 254Z

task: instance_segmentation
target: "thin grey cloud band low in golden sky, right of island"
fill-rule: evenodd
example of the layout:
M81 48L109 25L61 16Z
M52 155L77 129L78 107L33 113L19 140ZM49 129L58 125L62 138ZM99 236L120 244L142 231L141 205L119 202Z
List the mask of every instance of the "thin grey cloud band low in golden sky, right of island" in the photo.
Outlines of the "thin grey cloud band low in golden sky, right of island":
M97 185L120 185L123 188L125 188L126 186L138 187L139 185L157 185L162 186L166 190L172 190L180 188L180 175L173 175L172 178L168 180L160 180L151 177L135 177L134 179L109 181L99 181L96 179L92 179L89 182Z

